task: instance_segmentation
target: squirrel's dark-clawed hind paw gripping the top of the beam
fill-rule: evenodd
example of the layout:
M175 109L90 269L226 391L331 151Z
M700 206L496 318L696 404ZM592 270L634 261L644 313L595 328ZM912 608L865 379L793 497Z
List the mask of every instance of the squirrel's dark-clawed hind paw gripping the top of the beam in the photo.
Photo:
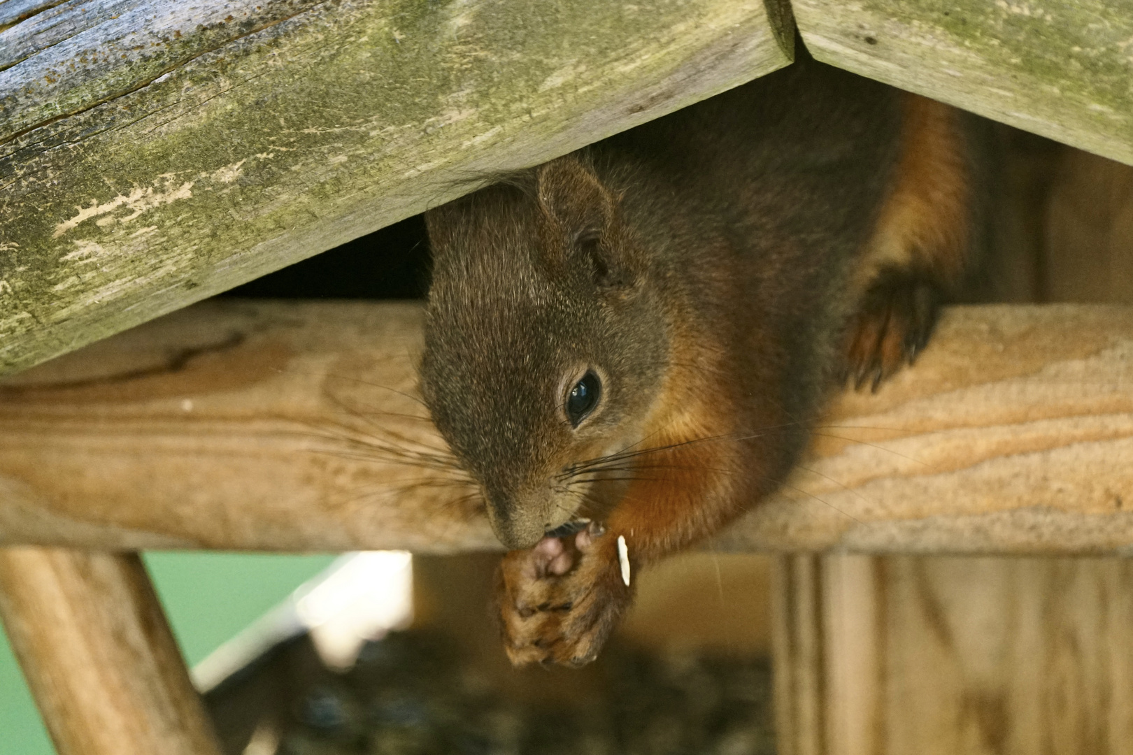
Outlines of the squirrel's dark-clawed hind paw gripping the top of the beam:
M850 321L842 383L854 389L881 381L925 349L940 309L942 291L930 277L889 269L878 275Z

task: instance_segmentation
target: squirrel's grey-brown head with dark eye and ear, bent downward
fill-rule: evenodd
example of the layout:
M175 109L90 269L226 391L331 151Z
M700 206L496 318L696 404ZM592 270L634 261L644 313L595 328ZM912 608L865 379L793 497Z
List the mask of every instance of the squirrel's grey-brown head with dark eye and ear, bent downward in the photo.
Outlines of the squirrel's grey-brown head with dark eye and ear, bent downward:
M588 516L580 464L639 440L665 310L619 196L577 156L426 213L421 391L510 549Z

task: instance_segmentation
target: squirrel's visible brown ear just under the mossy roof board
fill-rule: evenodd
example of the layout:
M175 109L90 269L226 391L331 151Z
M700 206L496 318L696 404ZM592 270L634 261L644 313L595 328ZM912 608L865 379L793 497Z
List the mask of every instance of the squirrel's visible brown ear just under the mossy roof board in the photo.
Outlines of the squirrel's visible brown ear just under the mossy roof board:
M539 205L560 233L568 255L586 259L595 282L603 288L627 289L636 276L617 235L617 197L577 157L553 160L538 170ZM554 244L555 248L559 244Z

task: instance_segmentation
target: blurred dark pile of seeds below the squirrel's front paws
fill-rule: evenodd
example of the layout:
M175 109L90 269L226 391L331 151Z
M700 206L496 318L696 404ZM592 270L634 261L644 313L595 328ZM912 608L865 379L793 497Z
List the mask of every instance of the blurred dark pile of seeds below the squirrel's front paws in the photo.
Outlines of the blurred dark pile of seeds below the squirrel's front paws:
M656 658L613 645L599 662L594 689L570 705L550 705L495 689L445 637L391 634L368 644L349 672L324 672L295 685L289 710L274 717L272 745L259 749L275 755L775 752L765 660Z

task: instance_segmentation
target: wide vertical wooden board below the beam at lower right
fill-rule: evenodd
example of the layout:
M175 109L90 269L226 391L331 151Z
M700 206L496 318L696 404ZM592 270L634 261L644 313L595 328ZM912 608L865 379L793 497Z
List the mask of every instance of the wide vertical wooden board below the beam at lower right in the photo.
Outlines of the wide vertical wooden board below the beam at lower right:
M1133 753L1133 564L783 556L781 755Z

